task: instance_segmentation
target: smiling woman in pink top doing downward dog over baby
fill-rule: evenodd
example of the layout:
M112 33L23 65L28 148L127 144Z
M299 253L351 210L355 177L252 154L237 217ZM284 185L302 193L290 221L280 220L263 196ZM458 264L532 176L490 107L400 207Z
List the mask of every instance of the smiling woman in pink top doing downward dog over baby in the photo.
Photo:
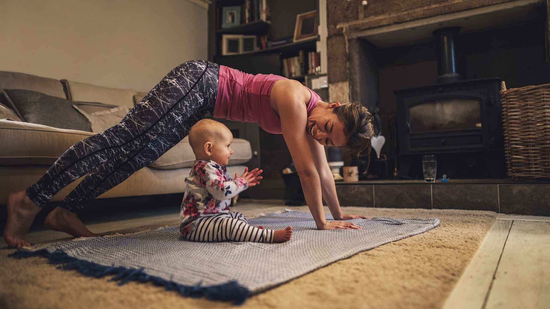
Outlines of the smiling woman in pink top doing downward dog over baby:
M4 239L24 239L32 220L63 187L85 178L50 212L44 225L75 237L95 236L76 213L87 203L149 165L178 144L205 114L257 122L283 134L307 205L318 229L359 229L343 214L323 145L370 151L372 115L358 103L326 103L300 82L277 75L250 75L204 60L178 65L124 119L71 146L34 185L8 197ZM337 221L327 221L322 197Z

